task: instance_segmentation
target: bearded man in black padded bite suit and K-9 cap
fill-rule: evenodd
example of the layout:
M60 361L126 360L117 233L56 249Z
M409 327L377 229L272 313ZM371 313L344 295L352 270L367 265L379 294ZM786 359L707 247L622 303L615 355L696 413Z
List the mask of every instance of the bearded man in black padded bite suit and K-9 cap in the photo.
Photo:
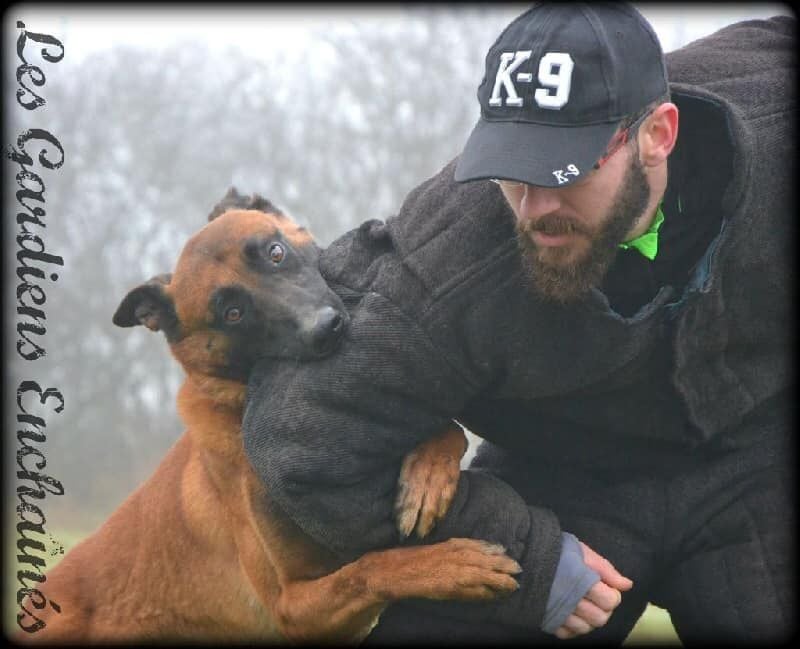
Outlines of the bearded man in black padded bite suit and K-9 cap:
M397 541L400 459L457 419L487 442L426 541L523 567L510 598L396 606L374 641L621 642L648 601L685 643L791 630L794 30L665 65L628 5L536 5L460 158L326 251L350 331L254 374L256 470L352 557ZM589 609L600 587L621 604Z

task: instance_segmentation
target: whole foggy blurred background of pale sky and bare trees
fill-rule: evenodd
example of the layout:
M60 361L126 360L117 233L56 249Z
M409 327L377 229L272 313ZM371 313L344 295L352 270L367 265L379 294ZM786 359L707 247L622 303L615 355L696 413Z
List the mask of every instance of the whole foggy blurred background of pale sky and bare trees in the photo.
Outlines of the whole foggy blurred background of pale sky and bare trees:
M637 6L665 51L731 22L791 13L766 3ZM182 430L174 408L182 374L161 335L111 324L127 290L172 269L231 185L266 196L322 245L391 216L459 153L478 117L486 50L525 8L6 9L6 149L25 129L44 128L65 151L60 169L33 169L46 186L41 234L48 252L65 260L49 269L58 280L42 285L47 355L34 362L14 349L16 224L3 220L5 427L17 428L22 379L57 387L65 399L62 413L43 413L43 473L65 488L42 504L48 567L152 472ZM17 20L65 48L55 64L34 43L25 50L46 75L36 88L46 104L35 111L15 101ZM17 171L6 160L6 215L19 211ZM16 440L10 432L4 440L4 621L13 624ZM674 641L660 610L649 611L635 634L632 642Z

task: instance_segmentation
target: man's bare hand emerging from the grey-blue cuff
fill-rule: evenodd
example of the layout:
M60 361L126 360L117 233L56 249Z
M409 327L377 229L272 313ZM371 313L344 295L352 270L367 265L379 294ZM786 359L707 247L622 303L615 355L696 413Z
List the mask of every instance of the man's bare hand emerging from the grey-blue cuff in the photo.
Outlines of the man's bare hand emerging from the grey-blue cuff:
M622 602L622 592L630 590L633 582L601 557L588 545L580 542L583 560L600 575L600 581L592 586L572 614L556 630L556 637L566 640L589 633L604 626L614 609Z

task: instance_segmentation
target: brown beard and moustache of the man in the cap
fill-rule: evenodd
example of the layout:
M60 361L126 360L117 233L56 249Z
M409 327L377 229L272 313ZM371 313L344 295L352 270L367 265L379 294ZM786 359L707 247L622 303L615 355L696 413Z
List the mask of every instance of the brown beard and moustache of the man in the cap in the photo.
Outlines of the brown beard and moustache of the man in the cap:
M614 261L619 244L642 216L650 198L650 187L639 161L638 151L631 156L609 217L592 232L580 222L559 215L546 215L538 221L517 221L517 242L522 250L523 265L533 288L542 297L558 302L573 302L603 281ZM575 260L569 257L569 246L540 248L530 236L536 230L548 234L565 234L570 228L589 239L589 248Z

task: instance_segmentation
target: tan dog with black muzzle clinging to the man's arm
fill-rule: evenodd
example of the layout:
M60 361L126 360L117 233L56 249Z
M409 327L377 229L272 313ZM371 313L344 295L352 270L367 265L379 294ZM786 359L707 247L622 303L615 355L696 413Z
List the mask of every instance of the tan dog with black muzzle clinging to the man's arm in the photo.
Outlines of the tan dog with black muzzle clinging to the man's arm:
M514 591L517 563L471 539L341 566L270 500L242 447L248 372L263 357L333 352L347 315L317 271L311 236L268 201L232 190L210 219L175 272L133 289L114 315L117 325L166 334L186 371L178 410L187 430L152 477L48 574L42 591L60 612L23 602L46 626L21 639L350 642L397 599ZM426 486L426 476L437 458L460 452L453 429L410 456L398 510L406 534L415 525L424 533L446 510L452 460L443 482ZM431 488L445 493L426 498L426 508L421 494Z

